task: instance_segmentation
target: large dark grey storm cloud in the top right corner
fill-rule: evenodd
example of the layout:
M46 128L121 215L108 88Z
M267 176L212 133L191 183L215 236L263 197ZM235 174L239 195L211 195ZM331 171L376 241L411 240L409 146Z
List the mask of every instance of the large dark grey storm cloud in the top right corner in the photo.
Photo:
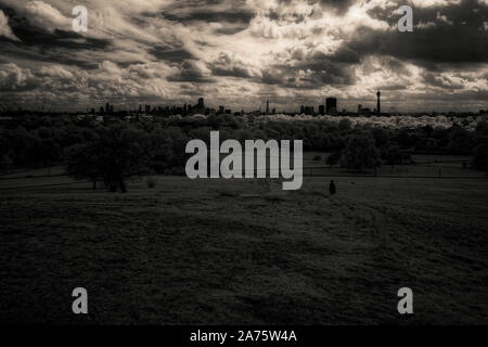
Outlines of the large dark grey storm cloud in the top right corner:
M396 23L400 15L390 10L370 11L374 17L387 21L393 30L364 27L348 40L336 55L386 54L412 60L423 66L436 64L486 63L488 7L473 0L444 8L413 8L413 33L400 33Z

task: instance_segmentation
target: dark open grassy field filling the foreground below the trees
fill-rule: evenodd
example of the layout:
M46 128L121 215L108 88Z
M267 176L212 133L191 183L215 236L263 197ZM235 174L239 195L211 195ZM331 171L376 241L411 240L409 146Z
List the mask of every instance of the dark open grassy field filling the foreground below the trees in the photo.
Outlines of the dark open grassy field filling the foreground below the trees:
M488 323L487 179L156 180L1 191L0 322Z

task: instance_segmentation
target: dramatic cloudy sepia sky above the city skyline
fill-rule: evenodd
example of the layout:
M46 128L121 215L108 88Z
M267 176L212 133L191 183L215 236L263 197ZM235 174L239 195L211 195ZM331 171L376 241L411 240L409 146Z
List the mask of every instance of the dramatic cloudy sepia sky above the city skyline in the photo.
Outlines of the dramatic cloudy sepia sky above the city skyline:
M0 0L3 105L478 111L487 79L488 0Z

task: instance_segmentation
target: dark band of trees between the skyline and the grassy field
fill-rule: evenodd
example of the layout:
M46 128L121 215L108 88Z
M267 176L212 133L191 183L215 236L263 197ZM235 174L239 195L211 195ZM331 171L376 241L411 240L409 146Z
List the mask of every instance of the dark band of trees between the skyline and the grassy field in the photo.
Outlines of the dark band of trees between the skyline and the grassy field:
M0 170L18 167L66 166L68 175L101 182L110 191L126 191L126 180L145 174L182 175L191 139L209 141L303 140L305 151L331 152L328 165L364 170L381 165L412 163L409 153L463 154L472 165L488 169L488 126L475 131L449 129L385 129L371 125L277 121L266 117L216 115L198 119L156 118L152 121L112 119L97 123L52 116L15 117L0 127Z

